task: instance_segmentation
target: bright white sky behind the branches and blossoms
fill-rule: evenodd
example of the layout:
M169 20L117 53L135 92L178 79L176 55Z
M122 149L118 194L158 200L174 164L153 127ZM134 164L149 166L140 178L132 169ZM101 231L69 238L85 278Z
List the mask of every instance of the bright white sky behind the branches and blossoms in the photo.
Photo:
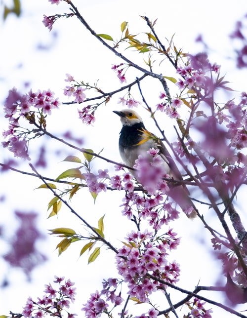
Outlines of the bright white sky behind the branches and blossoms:
M50 33L44 28L41 23L43 14L48 16L68 12L66 3L57 6L49 4L46 0L21 0L21 2L23 7L20 19L9 16L4 23L0 22L0 43L2 44L0 51L1 103L6 97L8 89L13 86L24 92L25 82L30 82L30 87L33 90L51 88L60 97L61 101L68 101L62 94L63 87L66 85L64 82L66 73L73 75L78 80L89 81L90 83L99 79L99 86L104 91L110 91L112 88L116 89L120 86L115 74L110 70L111 65L118 63L119 60L112 53L108 53L96 39L93 39L76 18L58 20ZM145 21L139 15L147 15L152 20L158 18L156 31L160 38L162 40L165 37L170 39L175 33L174 43L179 48L183 47L184 51L191 53L199 51L201 46L195 44L194 40L198 34L203 34L206 43L211 48L211 61L222 65L222 75L227 74L227 79L232 82L233 88L240 89L240 91L245 89L246 83L243 80L243 72L236 74L235 64L228 60L228 56L232 53L228 35L232 32L235 21L241 19L247 13L246 0L75 0L74 3L96 33L109 34L114 39L120 37L120 25L123 21L129 23L131 33L147 31ZM39 46L47 47L47 49L38 50L37 47ZM129 55L131 52L125 51L124 54ZM138 58L142 61L142 56L138 56ZM169 74L172 70L169 67L166 70L165 67L166 64L163 64L162 72L164 74L167 72L165 74L167 76L174 76L174 74ZM132 76L135 76L135 74ZM153 100L155 90L159 93L161 88L150 87L148 84L144 85L147 99L154 105L157 104L157 100ZM121 95L118 97L121 97ZM54 113L55 119L48 119L52 124L49 126L48 122L48 130L59 134L64 130L73 128L75 135L84 137L84 147L92 148L95 152L104 148L103 156L120 161L118 154L120 122L116 119L116 115L112 113L120 106L116 105L114 101L117 101L117 98L113 99L113 102L109 103L107 107L102 107L98 116L96 114L95 127L82 126L77 116L78 105L61 106L60 110ZM156 132L147 114L140 112L146 126ZM7 128L6 120L2 118L2 109L0 109L0 127ZM169 131L167 133L169 134ZM38 142L42 144L44 141L40 140ZM52 153L52 143L48 142L47 146ZM59 145L55 147L58 149ZM34 150L35 148L33 148ZM73 152L71 154L78 155ZM4 150L1 150L0 161L2 162L8 155ZM61 171L71 167L67 163L58 162L66 156L67 152L65 150L62 151L60 157L54 158L54 156L51 156L50 170L45 171L45 175L56 177ZM97 168L100 167L100 163L98 162ZM30 171L26 163L23 163L22 167L24 170ZM105 163L104 167L112 169ZM70 215L65 208L61 211L58 220L55 218L45 219L47 203L52 195L48 193L48 190L33 190L40 184L39 180L15 173L1 176L0 194L5 193L7 200L0 205L0 223L8 226L9 231L5 233L8 237L11 236L13 231L13 221L9 214L15 209L38 211L41 215L39 221L43 233L46 233L46 229L60 226L72 227L80 231L81 226L78 224L78 220ZM97 198L96 204L92 206L90 194L81 191L81 194L79 193L73 200L73 205L77 207L83 217L86 217L87 221L91 221L95 226L97 220L106 213L105 232L107 237L117 245L118 239L124 238L125 233L128 232L126 228L129 228L129 223L120 216L120 198L120 194L102 194ZM109 201L111 207L109 207ZM177 227L180 229L181 236L190 233L189 237L192 241L198 240L198 234L202 229L201 224L198 221L186 223L185 229L184 221L185 218L182 218L180 223L174 225L175 230ZM200 279L202 285L210 285L215 282L217 272L220 272L220 263L212 260L209 253L206 254L206 246L202 247L201 244L204 243L204 239L206 240L209 237L207 234L206 236L206 238L201 238L198 243L193 242L193 250L191 250L191 241L182 241L181 248L176 255L178 262L182 263L181 269L183 271L178 283L179 286L193 289ZM34 271L32 284L27 283L25 277L19 271L8 271L6 265L0 262L0 267L3 269L0 280L7 276L11 282L9 288L0 290L0 315L7 314L9 310L20 312L29 295L34 299L37 296L41 297L43 285L52 281L54 275L62 275L76 282L78 287L76 304L79 308L77 312L80 317L82 304L86 302L91 292L102 288L102 279L117 275L116 273L113 274L114 266L111 267L107 263L109 259L113 259L111 252L102 249L101 254L105 254L105 256L101 255L96 262L87 266L86 257L78 259L82 247L80 243L75 243L77 244L75 247L58 258L57 251L54 252L57 242L58 240L55 238L48 238L46 243L41 243L41 250L47 252L50 262ZM3 243L0 246L3 250L6 248ZM188 253L188 249L191 250L189 259L183 254L183 251ZM175 257L175 253L173 257ZM210 281L205 279L205 266L208 271L215 272L215 275L209 277ZM101 273L102 268L103 273ZM204 295L207 296L207 294ZM216 297L217 295L215 295L215 299ZM165 305L164 308L166 307ZM206 308L210 307L210 305L206 305ZM217 310L213 309L215 312L213 317L217 317ZM137 310L140 309L137 308ZM140 310L139 314L141 312ZM230 317L230 314L226 312L221 311L221 313L224 313L226 318Z

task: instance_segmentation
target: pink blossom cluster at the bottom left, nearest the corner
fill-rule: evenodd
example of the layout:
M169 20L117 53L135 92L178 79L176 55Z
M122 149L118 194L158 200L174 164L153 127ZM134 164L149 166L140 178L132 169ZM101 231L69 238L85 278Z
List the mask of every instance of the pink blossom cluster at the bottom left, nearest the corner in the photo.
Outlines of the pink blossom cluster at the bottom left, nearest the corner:
M75 283L70 279L64 280L64 277L56 276L54 282L59 286L54 289L50 283L45 285L45 294L42 298L38 297L37 301L31 297L28 298L22 311L24 318L62 317L63 311L66 312L68 318L77 316L77 314L68 313L65 309L70 308L71 303L75 301L76 288L73 287Z

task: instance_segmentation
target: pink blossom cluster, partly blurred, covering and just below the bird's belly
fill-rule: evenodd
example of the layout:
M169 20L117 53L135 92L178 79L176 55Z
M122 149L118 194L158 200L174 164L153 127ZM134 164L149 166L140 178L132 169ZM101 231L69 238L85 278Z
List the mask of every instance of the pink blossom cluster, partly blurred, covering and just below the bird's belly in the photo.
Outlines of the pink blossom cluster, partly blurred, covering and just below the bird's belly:
M167 182L164 180L164 177L169 178L164 173L164 160L155 149L150 149L147 155L148 157L139 156L135 165L137 171L134 171L136 178L145 189L143 194L135 191L134 179L129 172L124 172L123 176L111 177L110 186L113 189L126 191L121 205L124 216L132 219L135 215L139 220L147 220L153 229L159 230L164 224L177 219L178 211L172 207L171 203L166 202L166 196L164 196L169 191ZM117 169L119 170L118 167Z

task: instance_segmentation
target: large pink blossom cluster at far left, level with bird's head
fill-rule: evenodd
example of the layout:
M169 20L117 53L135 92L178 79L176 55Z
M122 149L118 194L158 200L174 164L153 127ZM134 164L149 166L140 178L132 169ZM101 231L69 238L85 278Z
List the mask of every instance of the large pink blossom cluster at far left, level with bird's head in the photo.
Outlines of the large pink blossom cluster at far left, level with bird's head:
M5 118L9 121L8 130L4 130L2 135L7 141L2 143L3 147L8 148L14 153L15 157L30 159L28 156L28 139L29 131L19 130L20 119L27 118L32 123L35 120L35 113L51 114L52 109L57 109L60 105L54 93L50 90L30 90L27 94L20 94L14 87L9 90L8 96L4 103L3 111Z

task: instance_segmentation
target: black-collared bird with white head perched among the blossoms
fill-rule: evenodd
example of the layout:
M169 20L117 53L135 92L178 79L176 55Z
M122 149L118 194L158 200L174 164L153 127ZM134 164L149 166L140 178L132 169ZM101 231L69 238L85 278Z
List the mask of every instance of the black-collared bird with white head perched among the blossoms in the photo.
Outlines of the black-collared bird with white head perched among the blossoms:
M181 207L186 215L194 219L197 216L197 209L189 198L189 191L187 187L178 185L182 181L182 175L166 149L162 140L149 132L143 123L140 115L132 109L124 109L122 111L113 111L120 117L122 129L119 137L119 152L124 164L130 167L130 173L138 181L138 176L133 169L136 160L140 155L147 156L147 151L151 148L159 150L158 154L163 159L162 168L164 175L168 175L174 182L169 183L169 196ZM151 160L151 156L150 156ZM187 213L190 211L190 213Z

